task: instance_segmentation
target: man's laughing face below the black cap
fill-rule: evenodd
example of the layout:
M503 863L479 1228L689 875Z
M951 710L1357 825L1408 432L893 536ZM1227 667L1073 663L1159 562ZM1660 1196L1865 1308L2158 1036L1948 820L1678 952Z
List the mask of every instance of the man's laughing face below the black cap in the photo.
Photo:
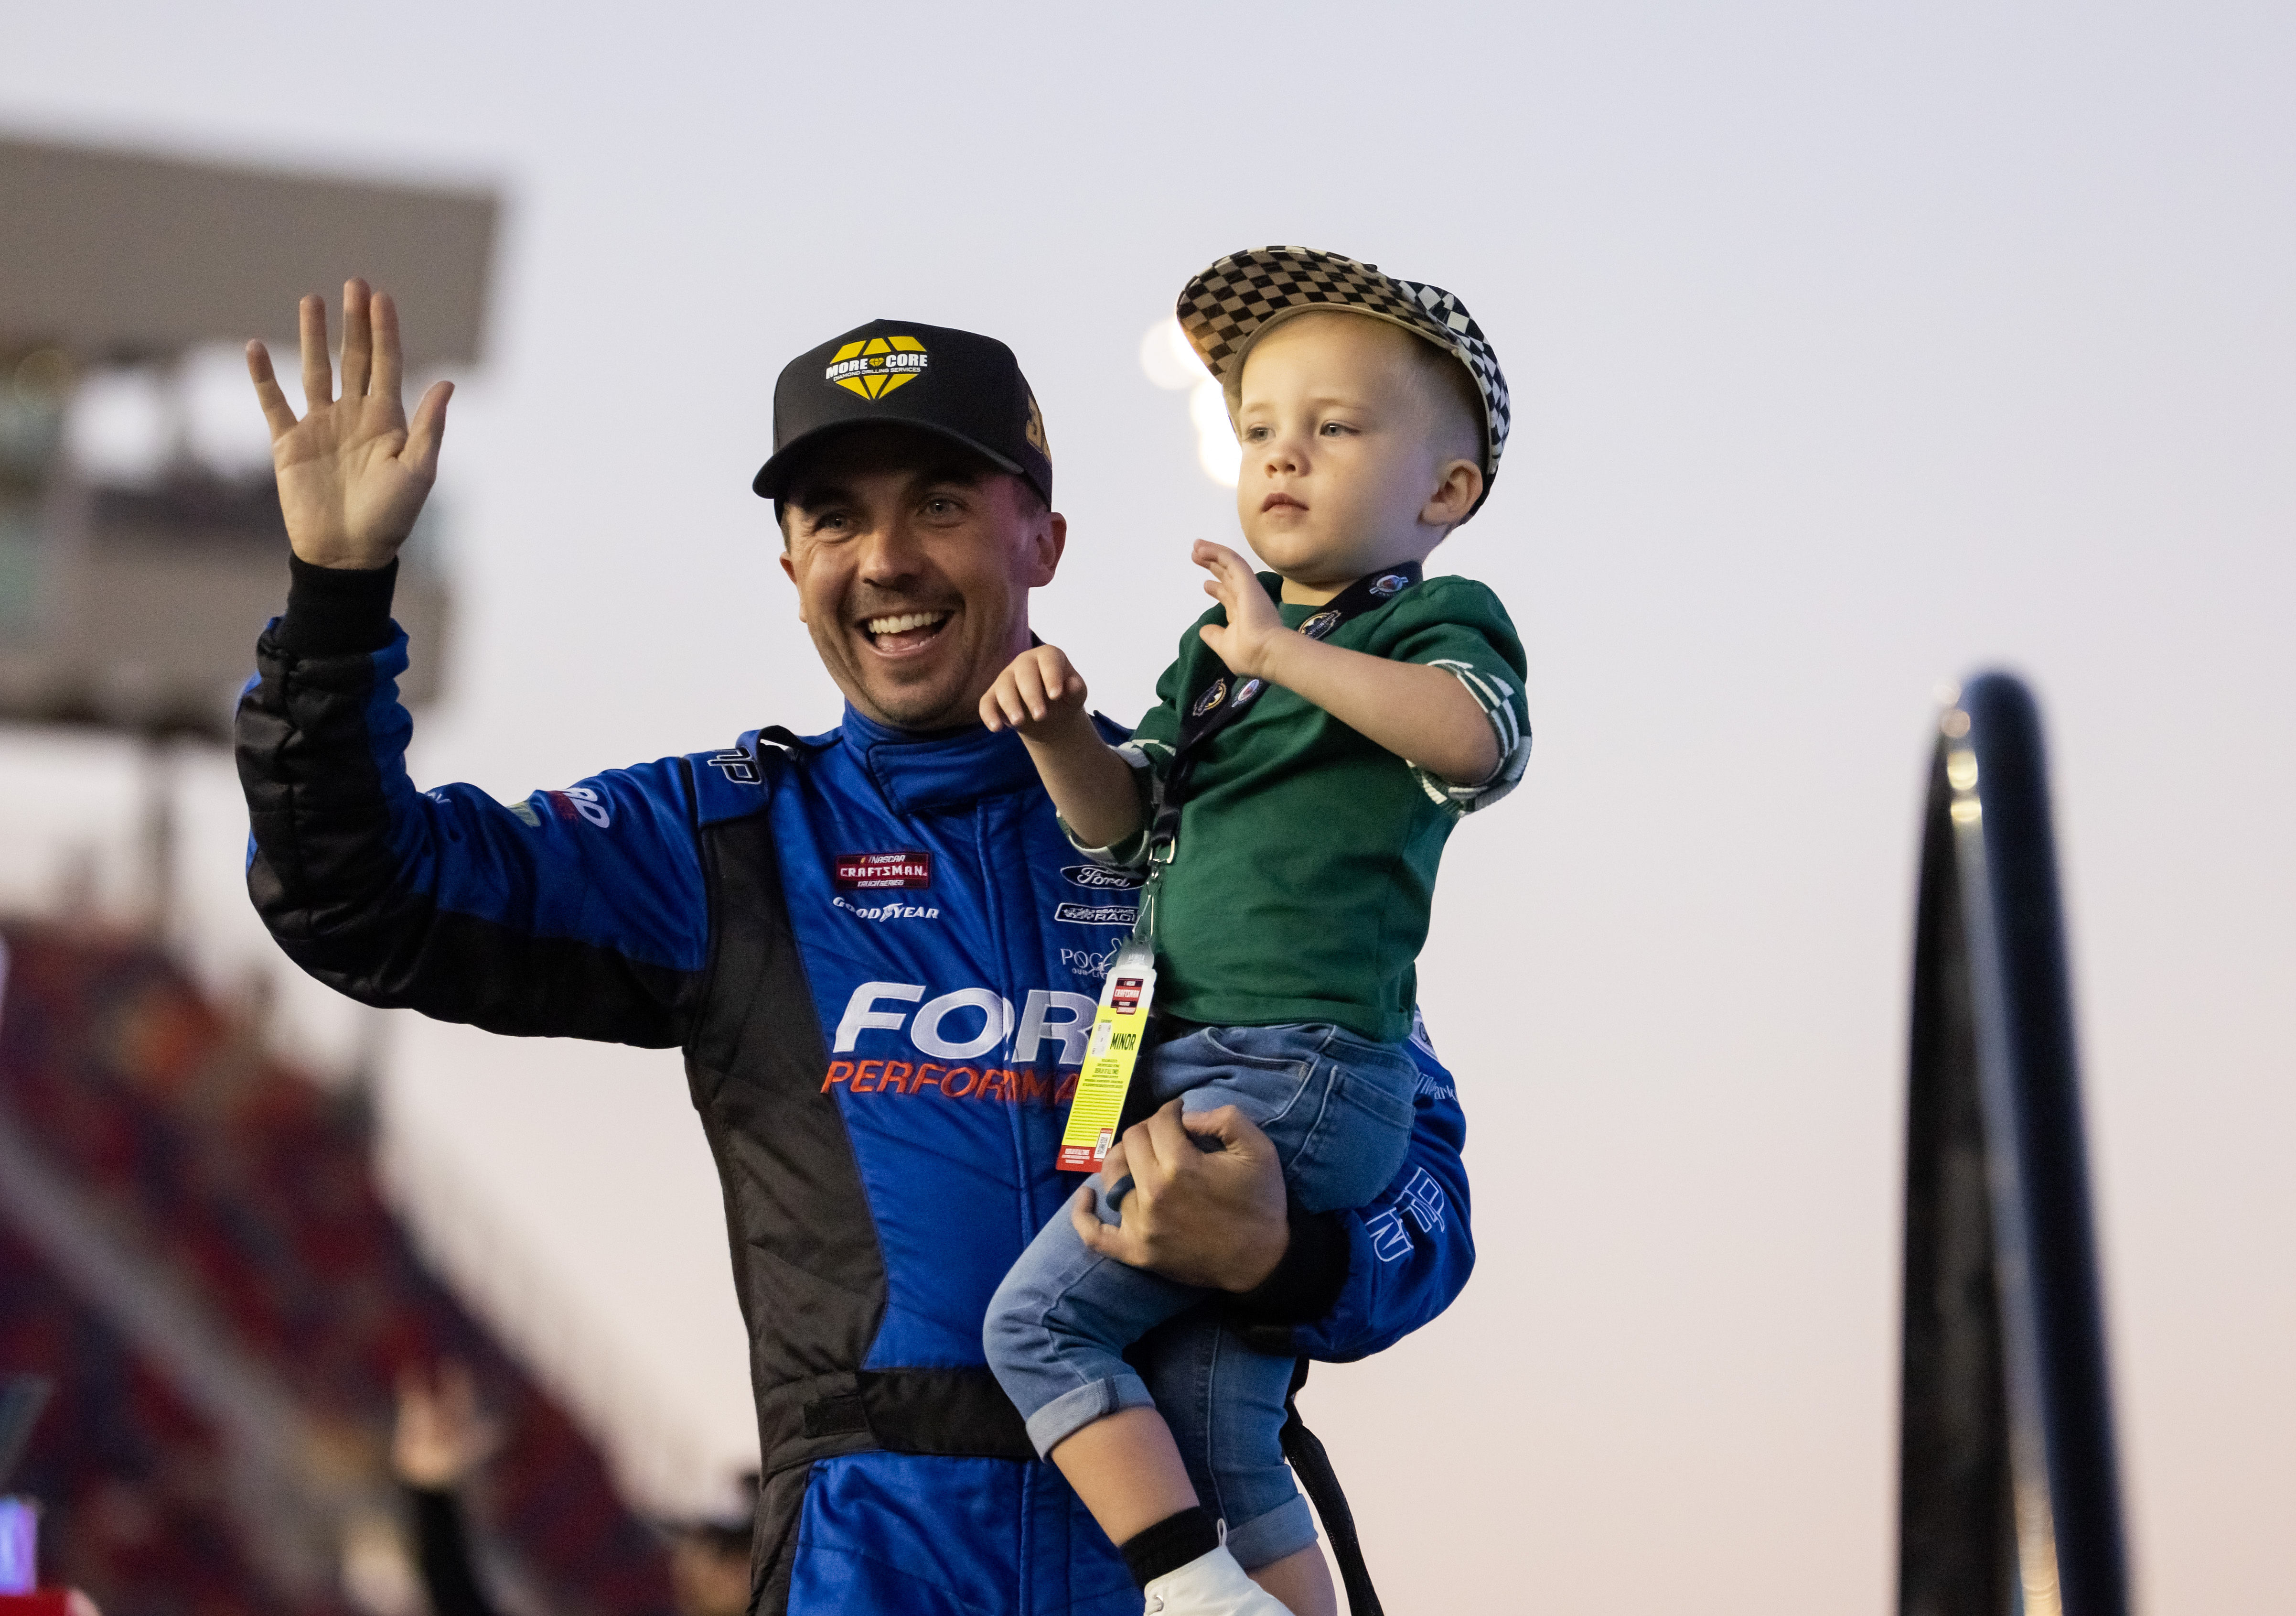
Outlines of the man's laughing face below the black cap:
M1052 582L1068 522L955 444L859 428L790 478L783 536L829 678L866 717L932 731L978 722L1029 648L1029 591Z

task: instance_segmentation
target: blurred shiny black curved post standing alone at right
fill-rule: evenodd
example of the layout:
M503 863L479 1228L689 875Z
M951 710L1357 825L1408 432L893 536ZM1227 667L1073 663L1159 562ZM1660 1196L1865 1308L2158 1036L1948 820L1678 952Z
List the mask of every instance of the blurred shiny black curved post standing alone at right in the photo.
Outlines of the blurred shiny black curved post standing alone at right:
M1903 1616L2126 1616L2041 715L1938 722L1906 1115Z

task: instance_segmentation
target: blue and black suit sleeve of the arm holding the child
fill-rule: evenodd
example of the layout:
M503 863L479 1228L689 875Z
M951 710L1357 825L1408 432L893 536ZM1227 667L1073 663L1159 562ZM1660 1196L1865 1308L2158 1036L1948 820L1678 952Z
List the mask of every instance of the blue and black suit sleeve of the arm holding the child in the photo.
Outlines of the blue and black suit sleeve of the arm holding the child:
M1382 1352L1430 1322L1474 1271L1467 1225L1467 1117L1451 1074L1414 1028L1419 1064L1410 1154L1387 1191L1352 1211L1302 1214L1267 1280L1228 1301L1254 1345L1327 1363Z

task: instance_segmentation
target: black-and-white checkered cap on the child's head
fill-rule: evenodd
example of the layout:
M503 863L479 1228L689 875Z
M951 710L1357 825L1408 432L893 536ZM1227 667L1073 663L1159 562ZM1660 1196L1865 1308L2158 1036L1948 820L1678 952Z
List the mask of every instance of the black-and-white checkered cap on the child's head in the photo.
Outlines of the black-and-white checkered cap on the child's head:
M1508 402L1506 375L1483 326L1456 294L1424 280L1398 280L1378 264L1359 264L1339 253L1311 246L1263 246L1228 253L1180 290L1180 329L1187 331L1196 359L1219 377L1235 407L1235 388L1244 375L1251 343L1286 315L1304 308L1345 308L1373 315L1421 336L1458 356L1483 395L1483 497L1499 476L1499 453L1506 448ZM1472 515L1472 513L1469 513Z

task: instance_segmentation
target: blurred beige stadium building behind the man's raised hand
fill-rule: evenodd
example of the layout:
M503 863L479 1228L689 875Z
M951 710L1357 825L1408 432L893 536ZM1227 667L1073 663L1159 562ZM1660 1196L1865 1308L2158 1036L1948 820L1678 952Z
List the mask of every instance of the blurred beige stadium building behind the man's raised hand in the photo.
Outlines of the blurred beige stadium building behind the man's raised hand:
M406 310L411 372L468 363L496 211L478 191L0 140L0 722L147 747L154 931L172 890L165 747L230 740L255 634L287 598L271 467L202 453L191 361L365 274ZM432 531L409 542L397 616L425 646L402 685L420 706L445 662Z

